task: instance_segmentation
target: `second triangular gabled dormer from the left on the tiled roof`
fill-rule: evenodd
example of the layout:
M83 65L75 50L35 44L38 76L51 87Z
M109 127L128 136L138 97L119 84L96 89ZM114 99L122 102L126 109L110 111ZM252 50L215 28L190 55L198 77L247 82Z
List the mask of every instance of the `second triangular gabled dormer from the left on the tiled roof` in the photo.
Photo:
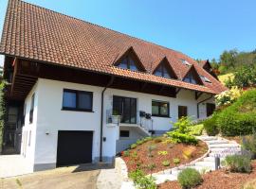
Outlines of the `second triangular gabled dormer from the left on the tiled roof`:
M173 67L166 57L158 63L153 71L153 74L157 77L177 78Z

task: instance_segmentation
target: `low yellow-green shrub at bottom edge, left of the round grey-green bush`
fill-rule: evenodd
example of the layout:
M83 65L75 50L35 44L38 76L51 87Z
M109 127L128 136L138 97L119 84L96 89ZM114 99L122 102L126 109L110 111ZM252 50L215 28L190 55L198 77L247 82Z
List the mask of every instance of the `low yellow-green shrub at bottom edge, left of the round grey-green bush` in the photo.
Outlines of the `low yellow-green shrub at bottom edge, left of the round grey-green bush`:
M138 189L156 189L155 179L146 177L140 169L131 172L129 177L134 180Z

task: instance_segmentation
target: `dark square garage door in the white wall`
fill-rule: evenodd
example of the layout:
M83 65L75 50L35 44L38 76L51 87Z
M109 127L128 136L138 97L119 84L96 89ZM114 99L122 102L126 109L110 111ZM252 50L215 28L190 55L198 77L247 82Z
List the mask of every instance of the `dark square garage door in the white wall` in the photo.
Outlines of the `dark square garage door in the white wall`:
M59 130L57 166L92 163L92 131Z

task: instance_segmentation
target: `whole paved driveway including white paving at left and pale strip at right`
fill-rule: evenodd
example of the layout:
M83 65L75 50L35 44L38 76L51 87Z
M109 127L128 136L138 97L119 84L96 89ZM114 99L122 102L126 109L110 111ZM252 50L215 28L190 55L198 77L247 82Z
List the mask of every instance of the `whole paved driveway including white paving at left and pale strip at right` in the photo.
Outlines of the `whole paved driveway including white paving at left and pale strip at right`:
M0 174L25 174L0 179L0 189L119 189L120 181L115 169L109 165L82 164L29 173L26 164L12 162L19 157L0 156ZM8 164L4 164L8 163ZM16 166L16 168L15 168ZM12 171L8 171L11 167ZM18 167L18 168L17 168ZM19 168L22 170L19 171ZM8 174L7 172L8 171Z

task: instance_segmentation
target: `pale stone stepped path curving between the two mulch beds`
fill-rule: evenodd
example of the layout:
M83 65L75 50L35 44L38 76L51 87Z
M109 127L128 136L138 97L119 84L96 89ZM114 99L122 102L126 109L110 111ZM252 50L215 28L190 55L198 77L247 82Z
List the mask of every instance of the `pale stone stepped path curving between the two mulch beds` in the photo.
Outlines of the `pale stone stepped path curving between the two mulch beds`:
M185 168L191 167L198 170L201 173L215 170L215 156L218 155L221 161L228 155L233 155L241 152L241 146L234 141L215 136L200 136L198 139L204 141L209 147L209 154L206 157L202 157L197 161L174 167L172 169L164 170L153 174L155 183L160 184L166 180L177 180L177 175ZM121 189L133 189L135 188L132 181L123 181Z

